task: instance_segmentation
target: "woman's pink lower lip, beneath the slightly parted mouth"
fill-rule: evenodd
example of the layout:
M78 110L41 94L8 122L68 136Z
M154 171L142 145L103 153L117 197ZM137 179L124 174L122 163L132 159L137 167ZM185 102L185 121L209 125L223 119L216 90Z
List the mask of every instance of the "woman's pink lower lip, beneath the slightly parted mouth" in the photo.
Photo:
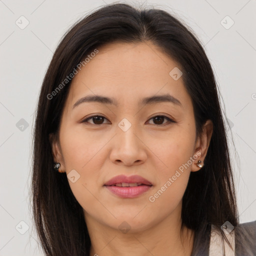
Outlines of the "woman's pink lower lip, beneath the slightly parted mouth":
M146 192L148 189L150 189L151 186L140 185L140 186L105 186L105 187L110 192L120 197L133 198Z

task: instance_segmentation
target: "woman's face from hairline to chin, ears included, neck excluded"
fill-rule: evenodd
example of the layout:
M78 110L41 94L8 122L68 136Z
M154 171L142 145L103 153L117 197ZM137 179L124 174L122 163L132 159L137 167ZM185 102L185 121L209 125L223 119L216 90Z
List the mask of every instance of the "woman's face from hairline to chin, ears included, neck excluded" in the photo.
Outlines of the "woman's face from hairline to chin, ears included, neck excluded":
M196 162L208 141L196 139L192 101L177 68L151 42L116 42L99 47L72 79L59 144L52 148L86 222L138 231L167 216L179 218L190 171L200 169ZM88 95L113 104L75 104ZM161 95L169 100L143 101ZM99 117L82 122L92 116ZM115 194L104 184L120 174L140 175L152 185L133 197Z

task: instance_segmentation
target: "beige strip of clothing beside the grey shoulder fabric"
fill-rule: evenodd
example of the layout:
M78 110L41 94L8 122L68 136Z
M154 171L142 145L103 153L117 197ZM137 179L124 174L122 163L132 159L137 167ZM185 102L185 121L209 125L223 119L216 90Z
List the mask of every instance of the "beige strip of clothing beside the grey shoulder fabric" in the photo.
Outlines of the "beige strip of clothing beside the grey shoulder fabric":
M226 238L231 243L231 249L227 242L224 240L224 248L226 256L234 256L234 230L232 230L229 234L226 234ZM221 235L215 231L214 225L211 225L211 234L210 234L210 246L209 246L209 256L223 256L222 252L222 241Z

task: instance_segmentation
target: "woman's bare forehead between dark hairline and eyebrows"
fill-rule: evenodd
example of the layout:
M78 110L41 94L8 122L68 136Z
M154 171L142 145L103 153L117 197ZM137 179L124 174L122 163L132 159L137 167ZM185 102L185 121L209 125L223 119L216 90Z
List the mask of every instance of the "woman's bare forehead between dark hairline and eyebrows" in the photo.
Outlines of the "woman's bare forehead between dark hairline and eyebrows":
M88 94L100 94L125 101L169 93L186 102L189 95L182 76L174 80L169 72L180 65L151 42L115 42L98 47L98 53L73 77L68 104ZM135 101L134 101L135 102ZM70 107L69 107L70 108Z

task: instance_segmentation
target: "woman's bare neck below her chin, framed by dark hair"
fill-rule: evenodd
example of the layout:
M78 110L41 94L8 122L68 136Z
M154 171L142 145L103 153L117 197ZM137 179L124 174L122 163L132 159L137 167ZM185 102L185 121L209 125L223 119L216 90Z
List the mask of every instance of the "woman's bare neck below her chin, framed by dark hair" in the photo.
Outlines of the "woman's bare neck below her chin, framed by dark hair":
M87 214L85 219L91 240L90 256L190 256L192 252L194 232L187 227L180 229L180 215L178 218L170 214L150 227L131 228L126 233L102 225Z

